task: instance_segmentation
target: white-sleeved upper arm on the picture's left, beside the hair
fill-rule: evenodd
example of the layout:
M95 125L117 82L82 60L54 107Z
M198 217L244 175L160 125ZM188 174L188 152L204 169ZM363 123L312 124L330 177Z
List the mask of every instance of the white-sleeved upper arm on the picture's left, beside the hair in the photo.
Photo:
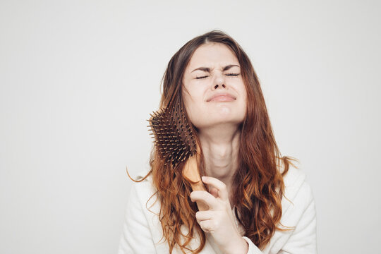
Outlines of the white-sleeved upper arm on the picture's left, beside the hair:
M150 227L136 191L137 184L140 183L133 183L129 194L118 254L156 253Z

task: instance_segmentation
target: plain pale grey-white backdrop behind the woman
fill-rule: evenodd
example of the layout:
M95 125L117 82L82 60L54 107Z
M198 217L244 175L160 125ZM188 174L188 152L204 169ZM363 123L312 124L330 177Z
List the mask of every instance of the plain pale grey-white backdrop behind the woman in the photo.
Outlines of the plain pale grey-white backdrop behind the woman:
M319 253L380 250L380 1L0 1L0 253L116 253L171 56L250 56Z

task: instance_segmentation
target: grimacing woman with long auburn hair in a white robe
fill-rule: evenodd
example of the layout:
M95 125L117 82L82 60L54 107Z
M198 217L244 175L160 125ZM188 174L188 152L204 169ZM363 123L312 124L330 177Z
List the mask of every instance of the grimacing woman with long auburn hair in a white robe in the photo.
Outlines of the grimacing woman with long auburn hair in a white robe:
M171 58L163 85L160 107L174 100L192 123L208 191L192 191L154 147L150 171L131 189L119 254L316 253L313 193L280 156L238 43L219 30L195 37Z

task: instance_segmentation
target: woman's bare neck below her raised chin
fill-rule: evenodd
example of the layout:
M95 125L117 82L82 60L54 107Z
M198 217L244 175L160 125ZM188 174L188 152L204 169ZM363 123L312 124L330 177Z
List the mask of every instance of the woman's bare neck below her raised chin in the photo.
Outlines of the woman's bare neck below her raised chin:
M240 135L238 127L231 124L202 128L198 133L206 174L225 183L228 193L231 193L232 177L238 169Z

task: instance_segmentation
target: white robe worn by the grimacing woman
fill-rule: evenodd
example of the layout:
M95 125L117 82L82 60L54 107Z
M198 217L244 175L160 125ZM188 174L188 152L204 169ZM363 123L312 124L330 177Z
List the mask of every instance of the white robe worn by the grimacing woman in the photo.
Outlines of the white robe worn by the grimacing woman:
M263 250L255 246L250 238L243 236L244 233L240 229L241 235L248 242L247 254L317 253L315 201L310 185L305 179L306 174L290 164L289 171L284 176L284 195L294 205L286 198L282 198L281 223L284 226L295 226L295 229L293 231L275 231L270 243L267 243ZM119 254L169 253L167 241L164 242L163 238L159 243L162 238L162 225L157 216L160 210L159 200L150 207L156 200L156 195L154 195L147 203L153 193L155 193L155 188L152 186L151 175L140 183L133 183L128 198L123 234L119 243ZM146 203L147 207L155 214L147 210ZM238 225L237 221L236 224ZM205 236L206 243L201 253L222 253L214 243L210 233L205 233ZM198 248L200 238L193 238L193 240L191 241L191 249ZM175 248L172 253L178 254L181 253L181 250Z

